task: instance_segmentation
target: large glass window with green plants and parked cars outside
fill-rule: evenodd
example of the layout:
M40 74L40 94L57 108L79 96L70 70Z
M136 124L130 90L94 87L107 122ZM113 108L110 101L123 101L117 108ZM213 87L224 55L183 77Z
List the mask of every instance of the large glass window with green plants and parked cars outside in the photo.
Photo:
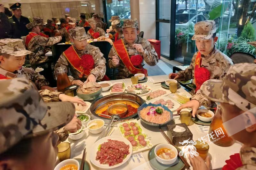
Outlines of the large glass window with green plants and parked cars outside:
M171 3L171 0L157 0L156 18L159 22L163 22L159 13L163 13L164 3ZM175 30L166 24L158 24L156 35L159 40L164 40L164 47L161 47L161 55L169 60L176 60L183 64L189 64L194 53L197 51L195 41L191 40L194 35L194 26L196 22L203 20L214 20L216 23L216 33L218 41L216 48L230 57L234 52L246 52L255 55L255 48L247 42L255 41L256 30L256 1L254 0L176 0L176 5L169 5L175 12L175 18L169 15L170 20L164 22L172 23L174 21ZM174 13L173 12L173 13ZM163 18L165 19L165 18ZM161 28L163 27L163 28ZM169 29L169 49L170 55L166 55L168 51L166 47L166 39L163 39L161 30ZM165 35L164 37L168 37ZM161 43L162 45L162 43ZM171 50L173 48L173 51Z

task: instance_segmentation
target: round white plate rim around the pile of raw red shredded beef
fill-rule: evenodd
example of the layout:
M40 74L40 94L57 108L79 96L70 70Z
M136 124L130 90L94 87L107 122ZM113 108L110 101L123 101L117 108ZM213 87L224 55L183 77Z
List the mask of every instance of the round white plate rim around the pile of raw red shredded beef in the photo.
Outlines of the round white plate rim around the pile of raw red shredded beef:
M128 144L130 146L129 148L129 154L126 156L126 158L123 160L123 162L116 164L114 166L108 166L108 164L100 164L99 160L96 160L96 155L98 152L98 147L100 144L103 144L104 142L108 142L108 139L112 140L118 140L121 142L124 142L125 144ZM126 161L128 161L132 155L132 144L124 137L120 136L108 136L108 137L103 137L102 139L98 140L92 145L92 149L90 150L90 161L92 162L93 165L98 166L99 168L105 168L105 169L111 169L111 168L116 168L118 166L123 165Z

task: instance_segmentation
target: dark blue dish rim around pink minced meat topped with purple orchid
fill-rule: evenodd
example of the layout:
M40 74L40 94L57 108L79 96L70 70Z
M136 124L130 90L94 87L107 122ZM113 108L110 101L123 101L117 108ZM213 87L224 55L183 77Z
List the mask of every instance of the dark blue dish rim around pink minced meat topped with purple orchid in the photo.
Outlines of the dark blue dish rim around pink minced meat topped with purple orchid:
M161 106L161 107L163 107L164 110L166 110L167 112L170 113L170 120L168 120L168 121L166 121L166 122L164 122L164 123L153 123L153 122L148 122L148 121L146 121L145 119L143 119L143 118L141 117L140 111L141 111L143 108L146 108L146 107L148 107L148 106L151 106L151 107L159 107L159 106ZM168 122L170 122L170 121L172 120L172 115L173 115L173 113L172 113L172 111L171 111L168 107L166 107L166 106L164 106L164 105L161 105L161 104L155 105L155 104L152 104L152 103L148 103L148 104L144 103L143 105L141 105L141 106L138 108L138 115L139 115L141 121L144 122L145 124L149 125L149 126L164 126L164 125L166 125Z

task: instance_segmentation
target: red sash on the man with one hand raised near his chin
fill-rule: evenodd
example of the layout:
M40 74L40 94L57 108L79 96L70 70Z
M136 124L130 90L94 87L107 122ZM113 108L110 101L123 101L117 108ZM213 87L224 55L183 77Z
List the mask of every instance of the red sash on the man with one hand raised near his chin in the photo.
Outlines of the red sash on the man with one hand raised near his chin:
M124 42L122 39L115 41L113 43L113 46L114 46L118 56L121 58L122 62L124 63L124 65L127 67L127 69L132 74L143 73L143 74L145 74L145 76L148 76L147 69L144 69L144 68L138 69L132 65L130 57L128 55L128 52L126 51L126 48L124 46Z

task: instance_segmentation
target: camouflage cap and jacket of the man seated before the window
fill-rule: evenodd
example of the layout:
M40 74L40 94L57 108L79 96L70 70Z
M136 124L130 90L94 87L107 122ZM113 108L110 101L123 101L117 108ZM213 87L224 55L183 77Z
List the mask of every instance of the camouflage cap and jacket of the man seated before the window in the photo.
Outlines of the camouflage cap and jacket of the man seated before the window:
M212 38L212 34L215 33L215 22L214 21L201 21L195 25L195 35L192 37L193 40L208 40ZM188 81L193 79L194 88L191 91L191 99L199 101L201 106L210 106L211 101L205 98L200 90L195 94L196 83L195 83L195 62L196 62L196 52L191 60L190 66L183 71L179 71L180 76L177 80ZM220 79L222 80L229 66L233 64L232 60L222 52L220 52L215 46L210 54L207 56L201 55L201 67L204 67L210 71L210 79Z

